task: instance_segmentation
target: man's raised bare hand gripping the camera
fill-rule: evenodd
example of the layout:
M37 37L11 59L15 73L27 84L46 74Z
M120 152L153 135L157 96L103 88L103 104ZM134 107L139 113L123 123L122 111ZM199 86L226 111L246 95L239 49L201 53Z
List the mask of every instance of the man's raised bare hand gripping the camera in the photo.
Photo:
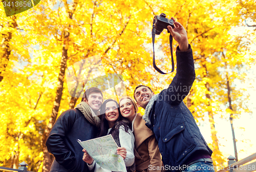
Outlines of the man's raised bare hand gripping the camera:
M174 17L171 18L174 20L174 29L171 26L167 26L170 34L172 34L173 38L178 42L180 51L185 52L188 50L188 40L187 40L187 32L185 28L179 23L175 21Z

